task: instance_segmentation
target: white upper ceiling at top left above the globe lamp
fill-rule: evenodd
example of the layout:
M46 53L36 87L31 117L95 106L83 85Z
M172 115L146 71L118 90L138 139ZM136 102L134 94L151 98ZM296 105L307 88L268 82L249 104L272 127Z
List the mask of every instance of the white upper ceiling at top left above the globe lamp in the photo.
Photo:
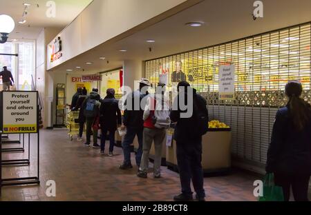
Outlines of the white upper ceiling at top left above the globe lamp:
M15 20L15 30L10 39L37 39L42 28L65 28L93 0L53 0L56 3L56 17L48 18L47 0L0 0L0 14L8 14ZM30 3L26 23L20 24L25 6ZM39 6L39 7L38 7Z

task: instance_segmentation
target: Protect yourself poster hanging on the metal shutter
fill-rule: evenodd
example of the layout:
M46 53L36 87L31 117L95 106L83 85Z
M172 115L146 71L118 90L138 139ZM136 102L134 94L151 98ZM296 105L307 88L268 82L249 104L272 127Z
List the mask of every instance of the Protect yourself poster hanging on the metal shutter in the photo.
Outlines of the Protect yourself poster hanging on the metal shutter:
M234 65L219 67L219 100L234 100Z

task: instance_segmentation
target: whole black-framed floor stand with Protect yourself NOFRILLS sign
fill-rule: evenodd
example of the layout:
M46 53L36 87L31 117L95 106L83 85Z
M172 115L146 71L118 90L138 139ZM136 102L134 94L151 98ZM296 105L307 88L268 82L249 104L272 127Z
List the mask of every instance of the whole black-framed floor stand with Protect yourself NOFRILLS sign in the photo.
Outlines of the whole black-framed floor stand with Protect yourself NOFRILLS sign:
M2 134L28 134L28 159L2 160L0 156L0 172L3 165L30 165L31 134L37 136L37 176L22 178L2 178L0 174L0 190L3 186L39 184L39 108L38 92L3 91L0 92L0 132ZM0 155L3 152L0 133ZM8 151L9 152L9 151ZM0 191L1 194L1 191Z

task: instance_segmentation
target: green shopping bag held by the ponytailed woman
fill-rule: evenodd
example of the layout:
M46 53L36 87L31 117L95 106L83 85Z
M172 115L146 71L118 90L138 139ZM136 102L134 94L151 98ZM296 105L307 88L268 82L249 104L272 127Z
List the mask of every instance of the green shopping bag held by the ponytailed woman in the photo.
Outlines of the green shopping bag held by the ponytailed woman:
M263 179L263 196L259 201L284 201L282 187L274 185L274 174L266 174Z

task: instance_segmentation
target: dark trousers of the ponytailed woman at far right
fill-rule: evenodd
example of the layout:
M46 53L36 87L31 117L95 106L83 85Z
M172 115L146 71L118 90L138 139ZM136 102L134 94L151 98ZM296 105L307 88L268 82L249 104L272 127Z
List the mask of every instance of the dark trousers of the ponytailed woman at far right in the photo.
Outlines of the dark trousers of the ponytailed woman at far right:
M295 201L309 201L309 181L310 174L287 175L274 173L275 185L283 188L284 201L290 201L290 187L292 187Z

